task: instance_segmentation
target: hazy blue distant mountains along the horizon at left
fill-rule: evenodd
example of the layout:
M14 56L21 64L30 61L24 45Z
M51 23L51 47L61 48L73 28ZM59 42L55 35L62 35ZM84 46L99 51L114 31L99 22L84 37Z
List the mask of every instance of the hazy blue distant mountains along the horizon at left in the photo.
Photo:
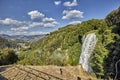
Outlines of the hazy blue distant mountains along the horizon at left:
M32 41L32 40L38 40L40 38L43 38L45 34L43 35L7 35L7 34L0 34L1 37L6 39L12 39L12 40L24 40L24 41Z

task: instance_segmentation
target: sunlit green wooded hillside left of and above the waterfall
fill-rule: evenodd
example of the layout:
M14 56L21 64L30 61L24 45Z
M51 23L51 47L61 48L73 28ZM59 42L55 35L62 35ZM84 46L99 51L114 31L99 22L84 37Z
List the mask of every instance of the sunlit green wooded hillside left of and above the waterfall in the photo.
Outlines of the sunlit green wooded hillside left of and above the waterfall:
M82 37L87 33L103 33L108 26L104 20L92 19L77 25L68 25L51 32L43 39L33 42L30 50L19 55L20 64L32 65L78 65L81 53ZM37 55L40 52L39 56ZM34 62L34 61L39 61ZM36 60L35 60L36 59ZM38 59L38 60L37 60Z

